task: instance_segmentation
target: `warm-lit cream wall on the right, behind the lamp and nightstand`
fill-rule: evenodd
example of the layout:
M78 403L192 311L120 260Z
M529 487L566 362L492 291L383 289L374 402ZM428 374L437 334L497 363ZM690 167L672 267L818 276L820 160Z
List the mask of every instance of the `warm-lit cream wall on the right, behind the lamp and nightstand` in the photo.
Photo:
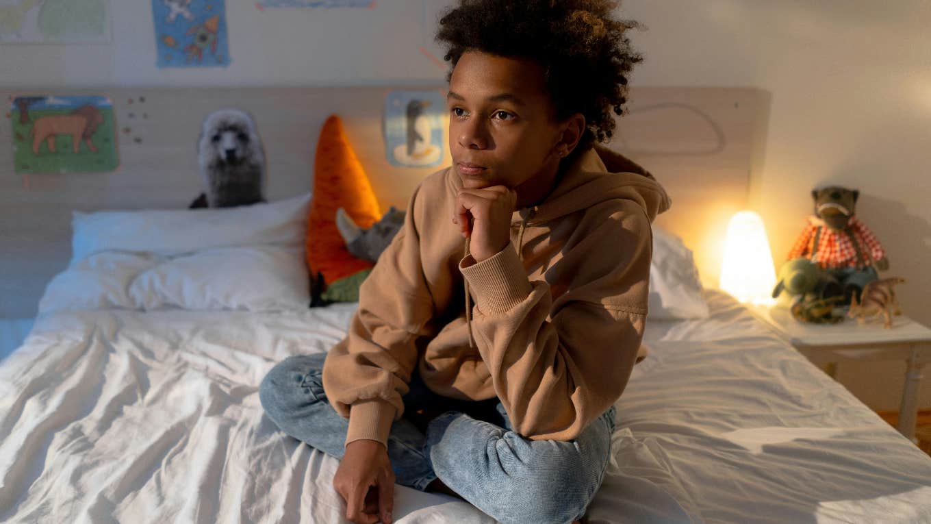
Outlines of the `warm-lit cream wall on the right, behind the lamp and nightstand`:
M776 264L821 184L859 188L857 212L905 277L903 310L931 325L931 3L923 0L627 0L649 27L635 85L749 85L772 93L753 180ZM897 409L904 364L842 365L871 407ZM931 407L931 380L921 405Z

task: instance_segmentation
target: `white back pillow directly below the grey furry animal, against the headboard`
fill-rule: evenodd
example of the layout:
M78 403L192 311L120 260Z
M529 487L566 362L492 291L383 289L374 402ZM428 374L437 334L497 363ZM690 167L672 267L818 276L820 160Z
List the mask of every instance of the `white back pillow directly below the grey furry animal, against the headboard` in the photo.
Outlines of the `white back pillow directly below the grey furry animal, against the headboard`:
M220 209L75 211L72 262L103 251L181 255L216 247L304 243L310 196Z

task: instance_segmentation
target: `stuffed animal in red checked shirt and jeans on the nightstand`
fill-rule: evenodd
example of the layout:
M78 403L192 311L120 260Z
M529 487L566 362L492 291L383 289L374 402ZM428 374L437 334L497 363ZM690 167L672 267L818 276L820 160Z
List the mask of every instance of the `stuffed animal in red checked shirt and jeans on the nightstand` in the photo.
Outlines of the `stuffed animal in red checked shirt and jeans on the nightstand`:
M820 298L859 296L867 283L879 278L876 269L889 268L883 246L856 215L859 191L829 186L812 191L815 214L808 217L789 262L803 257L823 271Z

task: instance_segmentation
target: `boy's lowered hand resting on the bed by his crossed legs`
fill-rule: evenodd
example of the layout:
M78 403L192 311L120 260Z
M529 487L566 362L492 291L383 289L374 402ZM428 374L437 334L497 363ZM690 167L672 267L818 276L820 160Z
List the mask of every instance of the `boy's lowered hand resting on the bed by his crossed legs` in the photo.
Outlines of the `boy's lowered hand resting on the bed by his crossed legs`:
M354 440L346 445L333 476L333 488L346 503L346 518L356 524L391 524L395 472L381 442Z

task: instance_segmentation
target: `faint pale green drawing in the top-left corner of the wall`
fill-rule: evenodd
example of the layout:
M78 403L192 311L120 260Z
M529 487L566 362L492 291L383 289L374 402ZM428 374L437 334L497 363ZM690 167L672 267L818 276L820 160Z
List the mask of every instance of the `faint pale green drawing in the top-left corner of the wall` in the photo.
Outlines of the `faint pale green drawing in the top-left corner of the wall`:
M108 0L0 0L0 42L110 41Z

